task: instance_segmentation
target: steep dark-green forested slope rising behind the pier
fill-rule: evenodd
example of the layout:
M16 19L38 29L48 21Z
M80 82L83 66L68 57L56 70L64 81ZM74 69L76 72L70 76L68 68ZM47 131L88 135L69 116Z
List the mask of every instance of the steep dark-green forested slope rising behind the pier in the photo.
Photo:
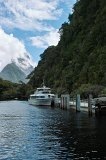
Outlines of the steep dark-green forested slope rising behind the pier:
M58 93L106 85L106 0L79 0L62 24L60 41L47 48L30 75L36 88L45 79ZM95 88L95 87L94 87ZM92 92L94 89L91 89Z

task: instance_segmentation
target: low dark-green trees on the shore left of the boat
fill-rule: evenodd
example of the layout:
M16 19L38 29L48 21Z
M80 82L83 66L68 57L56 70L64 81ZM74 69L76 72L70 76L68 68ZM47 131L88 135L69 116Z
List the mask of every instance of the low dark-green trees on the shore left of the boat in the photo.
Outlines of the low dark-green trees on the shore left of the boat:
M12 83L0 79L0 100L25 100L31 93L32 87L25 83Z

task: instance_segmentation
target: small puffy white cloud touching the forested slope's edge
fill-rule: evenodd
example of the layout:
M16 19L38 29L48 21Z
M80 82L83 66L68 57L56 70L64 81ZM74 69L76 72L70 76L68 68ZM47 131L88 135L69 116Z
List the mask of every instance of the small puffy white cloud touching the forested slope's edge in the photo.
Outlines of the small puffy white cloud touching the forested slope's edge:
M44 49L51 45L56 46L59 39L60 35L58 30L52 30L43 36L30 37L33 46Z

